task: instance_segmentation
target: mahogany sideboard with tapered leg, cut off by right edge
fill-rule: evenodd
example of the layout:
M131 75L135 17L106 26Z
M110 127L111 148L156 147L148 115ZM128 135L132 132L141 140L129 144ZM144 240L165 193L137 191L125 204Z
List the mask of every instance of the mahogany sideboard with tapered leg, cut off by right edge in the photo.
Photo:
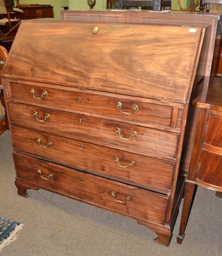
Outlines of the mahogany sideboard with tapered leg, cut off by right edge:
M185 236L195 185L222 192L222 77L210 77L206 99L197 98L193 104L198 108L198 117L177 236L180 244Z

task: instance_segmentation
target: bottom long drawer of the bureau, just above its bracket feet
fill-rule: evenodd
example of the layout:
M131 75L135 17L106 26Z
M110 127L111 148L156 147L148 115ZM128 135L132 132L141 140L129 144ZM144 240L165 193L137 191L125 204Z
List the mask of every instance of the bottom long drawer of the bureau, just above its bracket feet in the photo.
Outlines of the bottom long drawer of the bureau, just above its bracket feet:
M33 157L14 155L14 161L19 179L127 216L164 224L166 196Z

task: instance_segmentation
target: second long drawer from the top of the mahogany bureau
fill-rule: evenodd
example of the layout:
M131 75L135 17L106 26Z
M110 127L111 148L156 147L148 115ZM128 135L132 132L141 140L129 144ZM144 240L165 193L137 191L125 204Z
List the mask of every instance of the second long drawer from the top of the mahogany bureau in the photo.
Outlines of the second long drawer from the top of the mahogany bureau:
M14 102L9 109L12 122L40 131L146 156L176 155L178 134Z

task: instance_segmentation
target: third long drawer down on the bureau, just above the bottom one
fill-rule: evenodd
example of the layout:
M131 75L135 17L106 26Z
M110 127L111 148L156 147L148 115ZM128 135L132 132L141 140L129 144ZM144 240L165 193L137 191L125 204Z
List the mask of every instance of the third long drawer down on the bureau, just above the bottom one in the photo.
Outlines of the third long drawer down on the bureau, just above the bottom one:
M14 147L28 154L159 189L164 193L171 189L173 163L20 127L12 127L12 137ZM53 146L40 147L36 138L40 138L42 145L52 141Z

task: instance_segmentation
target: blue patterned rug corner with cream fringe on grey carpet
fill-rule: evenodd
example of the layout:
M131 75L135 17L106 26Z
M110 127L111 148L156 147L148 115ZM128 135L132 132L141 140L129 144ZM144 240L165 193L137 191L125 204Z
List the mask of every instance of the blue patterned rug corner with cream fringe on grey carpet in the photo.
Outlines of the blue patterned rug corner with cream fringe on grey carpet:
M0 252L4 246L17 239L17 232L22 229L23 224L18 221L10 221L0 216Z

